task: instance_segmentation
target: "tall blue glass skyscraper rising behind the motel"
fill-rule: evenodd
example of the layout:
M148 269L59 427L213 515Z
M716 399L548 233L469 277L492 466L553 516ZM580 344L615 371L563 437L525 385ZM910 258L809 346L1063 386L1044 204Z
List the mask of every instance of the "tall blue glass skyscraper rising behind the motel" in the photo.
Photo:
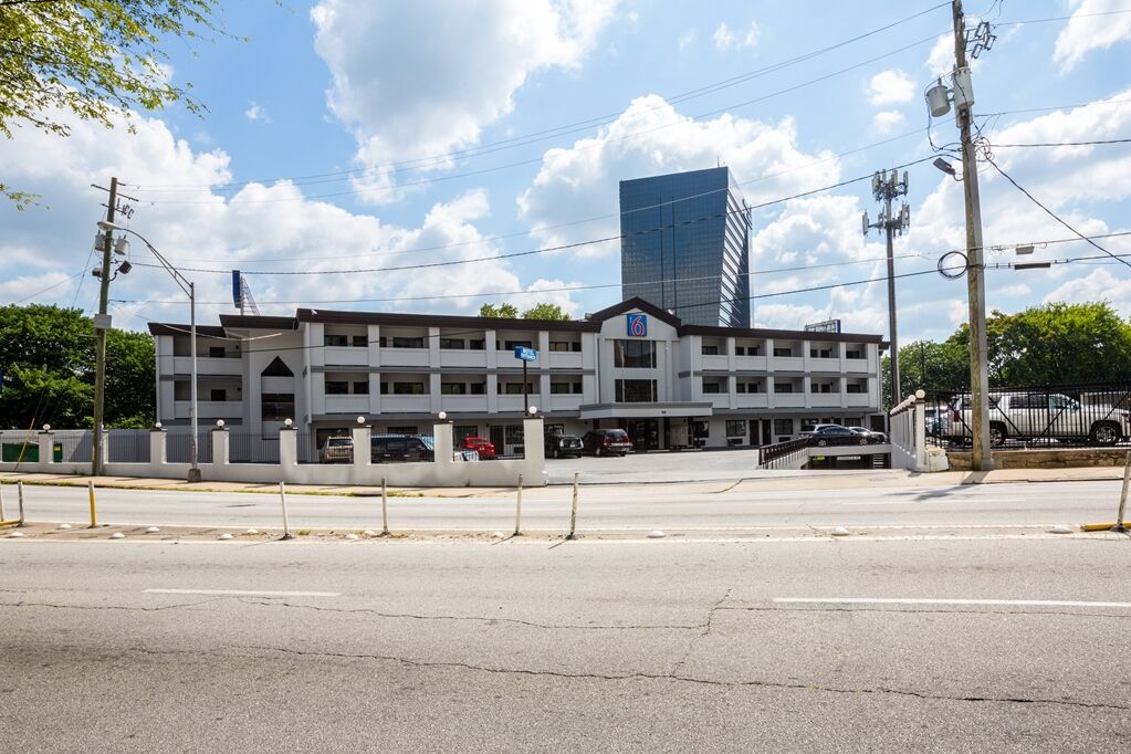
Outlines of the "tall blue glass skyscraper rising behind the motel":
M621 289L684 323L750 327L750 209L727 167L621 181Z

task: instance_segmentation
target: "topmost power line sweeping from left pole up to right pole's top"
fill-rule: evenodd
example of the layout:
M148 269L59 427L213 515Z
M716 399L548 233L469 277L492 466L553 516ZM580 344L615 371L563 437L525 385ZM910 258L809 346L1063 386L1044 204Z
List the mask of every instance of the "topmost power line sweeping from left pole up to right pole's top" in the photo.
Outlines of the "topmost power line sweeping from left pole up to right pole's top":
M797 64L800 62L805 62L805 61L811 60L813 58L820 57L820 55L822 55L824 53L831 52L834 50L838 50L840 47L847 46L847 45L853 44L855 42L860 42L860 41L865 40L865 38L867 38L870 36L874 36L874 35L880 34L882 32L889 31L891 28L895 28L897 26L900 26L903 24L912 21L912 20L914 20L916 18L920 18L920 17L925 16L927 14L931 14L931 12L933 12L935 10L939 10L940 8L943 8L943 7L948 6L948 5L949 5L949 2L940 2L938 5L931 6L930 8L926 8L924 10L920 11L920 12L916 12L916 14L913 14L913 15L907 16L905 18L901 18L901 19L899 19L897 21L892 21L892 23L886 24L883 26L873 28L873 29L871 29L869 32L858 34L856 36L853 36L853 37L849 37L849 38L846 38L846 40L843 40L843 41L834 43L831 45L827 45L827 46L820 47L818 50L813 50L813 51L810 51L810 52L806 52L806 53L802 53L800 55L795 55L793 58L788 58L788 59L779 61L777 63L771 63L769 66L763 66L763 67L754 69L752 71L748 71L745 73L740 73L740 75L733 76L731 78L722 79L719 81L715 81L713 84L708 84L708 85L705 85L705 86L701 86L701 87L698 87L698 88L694 88L694 89L689 89L689 90L685 90L685 92L682 92L682 93L679 93L679 94L675 94L675 95L666 96L665 97L665 102L667 104L679 104L679 103L682 103L682 102L687 102L689 99L694 99L694 98L705 96L707 94L713 94L713 93L718 92L720 89L728 88L728 87L735 86L737 84L742 84L742 83L749 81L749 80L754 79L754 78L759 78L759 77L765 76L767 73L772 73L772 72L777 72L779 70L784 70L785 68L788 68L791 66ZM649 110L655 110L655 109L649 109ZM620 113L620 112L618 112L618 113L606 113L604 115L598 115L598 116L589 118L589 119L586 119L586 120L576 121L573 123L568 123L568 124L564 124L564 125L553 127L553 128L550 128L550 129L544 129L544 130L535 131L535 132L532 132L532 133L519 135L519 136L515 136L515 137L511 137L511 138L508 138L508 139L501 139L499 141L485 144L485 145L478 145L476 147L468 147L466 149L459 149L459 150L455 150L455 151L450 151L450 153L437 154L437 155L431 155L431 156L426 156L426 157L417 157L417 158L414 158L414 159L406 159L406 161L392 162L392 163L388 163L386 165L386 167L406 167L406 166L417 166L417 167L420 167L422 164L425 164L424 166L426 167L426 166L430 166L430 164L434 164L434 163L446 164L447 162L449 162L449 161L451 161L454 158L457 158L457 157L468 157L468 156L478 156L478 155L482 155L482 154L491 154L491 153L498 150L498 149L495 149L497 147L512 148L512 147L516 147L516 146L526 146L527 144L534 144L535 141L542 141L542 140L544 140L544 139L532 139L532 137L542 137L544 135L549 135L546 138L555 138L555 137L566 136L568 133L572 133L572 132L576 132L576 131L579 131L579 130L588 130L589 128L592 128L594 125L605 125L605 124L607 124L607 123L616 120L621 114L622 113ZM578 128L578 127L580 127L580 128ZM571 129L571 130L567 130L567 129ZM335 171L335 172L329 172L329 173L316 173L316 174L312 174L312 175L295 176L295 177L293 177L291 180L293 180L295 182L304 182L304 181L313 180L313 179L325 179L325 177L334 177L334 176L354 177L354 176L364 176L366 173L370 173L370 172L372 172L372 168L356 168L356 170L349 170L349 171ZM214 189L214 190L226 191L226 190L232 190L232 189L235 189L235 188L241 188L241 187L248 185L250 183L273 183L273 182L277 182L277 181L280 181L280 180L287 180L287 176L280 176L280 177L275 177L275 179L266 179L266 180L236 181L236 182L230 182L230 183L226 183L226 184L218 184L218 185L208 185L208 184L133 184L133 185L136 188L143 188L143 189L149 189L149 190L156 190L156 189L202 189L204 188L204 189Z

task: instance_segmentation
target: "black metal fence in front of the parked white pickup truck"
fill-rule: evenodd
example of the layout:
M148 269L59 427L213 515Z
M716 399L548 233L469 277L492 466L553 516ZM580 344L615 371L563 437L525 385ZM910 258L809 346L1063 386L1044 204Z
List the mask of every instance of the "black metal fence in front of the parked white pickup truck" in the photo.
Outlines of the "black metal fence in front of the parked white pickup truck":
M933 391L925 402L929 442L972 443L969 391ZM988 433L991 445L1003 450L1128 445L1131 381L993 388Z

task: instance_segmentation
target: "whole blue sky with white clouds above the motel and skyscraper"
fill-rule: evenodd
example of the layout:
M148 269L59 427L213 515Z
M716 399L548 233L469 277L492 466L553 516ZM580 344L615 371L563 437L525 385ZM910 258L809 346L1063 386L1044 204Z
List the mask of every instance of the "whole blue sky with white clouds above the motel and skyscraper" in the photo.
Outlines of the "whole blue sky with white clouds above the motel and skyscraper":
M5 181L43 197L23 213L0 207L0 303L96 306L83 271L103 198L89 184L118 175L139 199L130 226L193 270L204 321L232 311L233 268L252 271L265 313L551 301L580 317L620 300L619 243L585 243L618 233L619 180L722 163L759 205L933 157L923 90L952 64L949 3L936 6L225 3L224 23L247 43L169 45L170 75L192 84L204 116L173 107L135 113L133 133L75 122L69 139L21 129L0 142ZM994 161L1079 231L1131 229L1131 145L996 146L1131 138L1131 0L966 10L998 35L974 70ZM935 120L930 135L952 144L953 120ZM990 263L1013 260L1016 243L1072 236L991 165L981 170L986 243L1010 246ZM964 243L961 187L930 162L908 172L901 274L930 270ZM882 283L789 293L883 275L881 239L861 237L864 209L875 217L867 182L756 213L757 324L837 317L886 331ZM1098 243L1131 253L1131 236ZM566 244L580 245L507 257ZM1097 254L1077 242L1034 257ZM112 286L115 326L185 320L172 280L141 266L152 260L140 244L130 259L135 271ZM481 261L349 271L460 259ZM1131 268L1108 259L987 272L990 305L1004 311L1107 300L1128 317L1129 283ZM905 341L946 337L965 319L962 281L903 278L898 300Z

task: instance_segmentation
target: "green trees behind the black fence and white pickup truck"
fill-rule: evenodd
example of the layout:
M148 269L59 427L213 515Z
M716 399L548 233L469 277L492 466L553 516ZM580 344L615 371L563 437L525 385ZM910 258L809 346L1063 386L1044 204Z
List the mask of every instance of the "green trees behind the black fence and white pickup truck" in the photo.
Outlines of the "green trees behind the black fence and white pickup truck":
M942 343L916 340L899 349L903 392L968 389L967 324ZM987 367L995 388L1108 382L1131 375L1131 321L1104 303L1050 303L986 318ZM884 396L890 397L887 358ZM898 402L898 401L896 401ZM890 404L889 404L890 405Z

